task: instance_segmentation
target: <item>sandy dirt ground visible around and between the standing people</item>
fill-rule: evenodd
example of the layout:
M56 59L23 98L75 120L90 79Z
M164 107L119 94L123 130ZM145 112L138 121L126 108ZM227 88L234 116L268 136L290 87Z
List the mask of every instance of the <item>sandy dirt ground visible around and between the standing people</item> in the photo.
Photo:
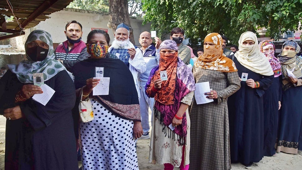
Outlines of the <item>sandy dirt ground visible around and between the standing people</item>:
M151 116L149 116L151 119ZM6 119L0 115L0 170L4 170L5 153L5 122ZM151 120L150 120L151 123ZM151 132L151 130L150 130ZM140 170L163 170L163 165L149 163L149 139L139 139L137 142L137 157ZM302 152L298 154L277 153L277 157L264 157L259 163L254 163L255 170L301 170ZM179 168L174 168L179 169ZM232 164L232 170L245 169L240 163Z

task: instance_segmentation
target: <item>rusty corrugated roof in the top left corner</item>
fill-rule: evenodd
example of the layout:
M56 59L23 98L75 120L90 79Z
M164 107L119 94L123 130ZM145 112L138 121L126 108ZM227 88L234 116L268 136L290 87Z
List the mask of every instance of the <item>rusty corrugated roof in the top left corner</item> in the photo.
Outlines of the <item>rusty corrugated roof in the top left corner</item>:
M12 4L13 13L18 18L23 28L34 27L41 21L49 18L51 13L61 11L73 0L9 0ZM16 33L14 30L20 30L17 20L6 22L6 29L2 29L3 15L13 16L12 11L6 0L0 1L0 32L11 30L8 33Z

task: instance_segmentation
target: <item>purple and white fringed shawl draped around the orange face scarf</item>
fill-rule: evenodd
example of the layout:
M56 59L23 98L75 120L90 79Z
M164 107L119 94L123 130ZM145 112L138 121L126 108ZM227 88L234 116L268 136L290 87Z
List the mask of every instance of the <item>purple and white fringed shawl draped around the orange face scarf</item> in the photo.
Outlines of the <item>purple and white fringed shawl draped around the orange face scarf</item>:
M168 73L167 73L168 74ZM195 90L195 81L192 74L192 71L189 67L187 67L182 60L177 57L177 68L175 74L175 90L173 93L173 103L172 104L162 104L158 100L155 101L154 104L154 114L155 116L160 120L160 123L163 125L163 130L166 128L168 129L168 126L172 123L172 119L174 118L175 114L177 113L179 106L181 104L181 100L185 95L187 95L189 92ZM159 66L154 67L151 70L149 80L145 86L146 94L149 96L151 94L151 89L154 85L153 80L157 80L154 77L159 76ZM168 75L169 78L169 75ZM169 86L169 85L167 85ZM163 88L163 87L162 87ZM164 90L159 90L157 93L163 93L163 95L166 95L167 93ZM170 93L171 94L171 93ZM187 135L186 130L186 113L183 114L182 118L182 125L177 126L174 129L174 133L185 137ZM168 131L166 130L166 133ZM182 143L182 142L181 142Z

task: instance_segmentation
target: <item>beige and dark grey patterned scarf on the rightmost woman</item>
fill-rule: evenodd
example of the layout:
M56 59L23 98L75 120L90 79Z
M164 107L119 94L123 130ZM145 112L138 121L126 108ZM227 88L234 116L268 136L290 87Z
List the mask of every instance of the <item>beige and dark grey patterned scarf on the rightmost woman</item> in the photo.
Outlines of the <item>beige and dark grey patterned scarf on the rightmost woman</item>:
M290 50L283 51L283 48L285 46L292 46L295 48L295 51L290 51ZM300 46L295 41L292 40L285 41L282 45L282 53L278 55L278 58L281 62L281 71L283 75L282 76L283 90L287 90L293 86L293 84L290 81L288 81L289 76L287 75L286 69L288 70L294 69L293 74L295 75L295 77L297 79L302 78L302 58L297 56L297 53L299 52L300 52Z

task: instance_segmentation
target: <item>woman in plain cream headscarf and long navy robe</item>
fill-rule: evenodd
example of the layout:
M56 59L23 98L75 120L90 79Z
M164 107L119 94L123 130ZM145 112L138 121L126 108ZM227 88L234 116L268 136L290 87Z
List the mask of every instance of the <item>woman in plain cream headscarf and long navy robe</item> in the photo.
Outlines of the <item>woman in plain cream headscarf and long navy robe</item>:
M244 32L238 41L234 63L241 88L228 99L231 161L249 167L263 157L263 98L274 73L260 52L257 36Z

